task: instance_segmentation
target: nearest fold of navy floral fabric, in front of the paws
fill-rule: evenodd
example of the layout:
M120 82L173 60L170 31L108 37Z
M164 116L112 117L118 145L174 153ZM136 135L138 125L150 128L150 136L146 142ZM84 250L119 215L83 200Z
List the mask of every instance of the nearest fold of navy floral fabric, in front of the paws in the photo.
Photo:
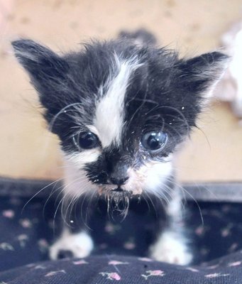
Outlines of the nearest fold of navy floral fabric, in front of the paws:
M89 256L31 263L0 273L1 284L229 284L241 283L242 252L202 266L175 266L134 256Z

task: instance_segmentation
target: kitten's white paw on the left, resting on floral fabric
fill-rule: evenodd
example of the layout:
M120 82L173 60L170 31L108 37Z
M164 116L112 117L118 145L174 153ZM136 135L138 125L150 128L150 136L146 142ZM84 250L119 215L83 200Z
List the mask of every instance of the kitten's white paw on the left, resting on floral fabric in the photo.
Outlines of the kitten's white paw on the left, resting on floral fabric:
M94 248L91 237L84 231L78 234L70 234L65 230L60 239L50 246L50 258L55 260L60 258L62 251L70 252L70 255L77 258L89 256Z

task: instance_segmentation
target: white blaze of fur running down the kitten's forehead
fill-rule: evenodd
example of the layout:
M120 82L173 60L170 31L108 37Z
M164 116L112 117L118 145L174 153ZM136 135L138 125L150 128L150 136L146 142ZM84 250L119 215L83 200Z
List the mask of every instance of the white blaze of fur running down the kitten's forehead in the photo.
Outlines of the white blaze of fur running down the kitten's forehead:
M111 143L119 144L121 141L126 89L132 72L141 66L136 58L119 60L117 55L115 55L115 64L118 73L100 87L100 93L102 94L106 89L106 94L103 94L96 104L94 126L91 129L99 136L103 147L110 146Z

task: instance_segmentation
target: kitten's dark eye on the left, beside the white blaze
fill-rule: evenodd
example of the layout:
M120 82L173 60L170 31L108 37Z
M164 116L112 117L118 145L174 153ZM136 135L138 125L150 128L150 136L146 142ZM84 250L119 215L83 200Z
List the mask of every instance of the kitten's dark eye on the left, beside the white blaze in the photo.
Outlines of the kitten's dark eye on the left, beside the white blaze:
M99 146L99 138L92 132L81 132L73 136L77 148L92 149Z

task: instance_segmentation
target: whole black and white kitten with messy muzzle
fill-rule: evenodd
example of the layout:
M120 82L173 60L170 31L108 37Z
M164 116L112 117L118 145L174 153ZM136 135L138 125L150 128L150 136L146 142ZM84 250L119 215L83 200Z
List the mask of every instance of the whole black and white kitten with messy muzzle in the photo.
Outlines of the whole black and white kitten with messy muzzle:
M192 253L180 229L173 153L195 126L228 57L213 52L180 59L153 42L123 34L64 55L33 40L12 45L38 91L50 131L60 138L64 195L104 195L111 204L145 194L169 199L163 204L168 222L150 256L185 265ZM66 227L50 257L63 249L84 257L93 247L86 230L73 234Z

